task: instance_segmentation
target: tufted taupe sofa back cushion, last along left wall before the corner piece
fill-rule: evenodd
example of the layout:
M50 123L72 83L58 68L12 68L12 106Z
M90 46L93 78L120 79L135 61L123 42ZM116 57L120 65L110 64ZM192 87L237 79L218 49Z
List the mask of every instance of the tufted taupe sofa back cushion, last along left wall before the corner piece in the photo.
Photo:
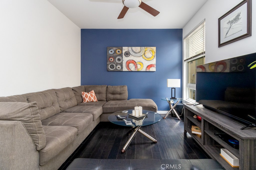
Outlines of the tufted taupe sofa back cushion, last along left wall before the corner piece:
M59 102L60 112L77 105L77 100L71 87L65 87L54 90Z

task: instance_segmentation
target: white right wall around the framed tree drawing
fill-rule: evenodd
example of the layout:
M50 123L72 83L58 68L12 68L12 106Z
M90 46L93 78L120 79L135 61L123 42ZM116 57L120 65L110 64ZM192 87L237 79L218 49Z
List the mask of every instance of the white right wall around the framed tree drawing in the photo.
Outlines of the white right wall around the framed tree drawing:
M208 0L184 26L183 37L205 19L205 62L214 62L256 52L256 4L252 0L252 36L218 48L218 18L242 0Z

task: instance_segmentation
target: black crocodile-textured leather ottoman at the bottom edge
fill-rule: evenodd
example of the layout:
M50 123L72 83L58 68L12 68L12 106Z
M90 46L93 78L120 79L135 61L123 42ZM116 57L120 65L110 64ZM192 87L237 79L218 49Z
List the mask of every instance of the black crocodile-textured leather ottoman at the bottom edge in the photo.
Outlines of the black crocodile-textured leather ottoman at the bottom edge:
M77 158L67 170L225 170L212 159L87 159Z

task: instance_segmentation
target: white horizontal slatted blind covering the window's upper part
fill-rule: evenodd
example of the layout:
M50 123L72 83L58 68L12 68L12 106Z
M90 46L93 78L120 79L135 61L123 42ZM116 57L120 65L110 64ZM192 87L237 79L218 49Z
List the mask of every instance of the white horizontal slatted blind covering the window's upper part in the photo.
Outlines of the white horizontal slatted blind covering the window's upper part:
M184 61L204 56L205 54L205 21L202 21L184 39Z

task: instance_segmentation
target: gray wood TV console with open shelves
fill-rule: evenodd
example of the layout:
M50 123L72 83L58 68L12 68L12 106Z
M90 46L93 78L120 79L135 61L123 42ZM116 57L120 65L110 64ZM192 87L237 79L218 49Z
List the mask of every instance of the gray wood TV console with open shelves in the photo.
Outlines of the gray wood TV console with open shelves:
M202 117L201 122L193 117L195 114ZM201 138L191 133L192 125L201 128ZM243 126L244 124L209 110L201 104L197 106L184 104L184 133L189 133L205 152L212 159L217 160L225 169L256 169L256 129L249 127L240 130ZM239 140L239 149L234 149L214 135L215 132L220 131ZM221 148L226 148L239 159L239 168L233 168L220 156Z

